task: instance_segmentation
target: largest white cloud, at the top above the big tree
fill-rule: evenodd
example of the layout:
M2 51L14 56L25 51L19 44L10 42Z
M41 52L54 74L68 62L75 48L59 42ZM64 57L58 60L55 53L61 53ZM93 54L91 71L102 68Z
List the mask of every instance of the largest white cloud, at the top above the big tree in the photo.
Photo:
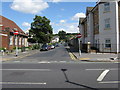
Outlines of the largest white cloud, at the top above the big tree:
M46 8L48 8L48 3L43 0L14 0L11 4L11 9L30 14L37 14Z

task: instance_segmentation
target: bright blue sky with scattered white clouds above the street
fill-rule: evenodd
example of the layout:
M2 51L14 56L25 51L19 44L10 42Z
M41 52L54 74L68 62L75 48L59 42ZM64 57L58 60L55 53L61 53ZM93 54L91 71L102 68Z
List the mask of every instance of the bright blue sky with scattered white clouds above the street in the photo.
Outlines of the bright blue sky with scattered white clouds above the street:
M86 7L96 2L61 2L61 0L11 0L2 2L1 15L14 21L23 31L28 31L35 15L46 16L51 21L53 33L61 30L77 33L80 17L86 17Z

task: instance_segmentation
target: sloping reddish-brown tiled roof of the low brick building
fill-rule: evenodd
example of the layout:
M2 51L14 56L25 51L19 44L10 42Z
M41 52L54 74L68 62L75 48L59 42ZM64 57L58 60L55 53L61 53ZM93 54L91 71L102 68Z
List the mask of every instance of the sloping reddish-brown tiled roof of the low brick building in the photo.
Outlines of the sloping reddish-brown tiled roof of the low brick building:
M10 28L10 32L14 32L14 28L17 28L18 32L21 34L24 34L23 30L12 20L7 19L3 16L0 16L0 24L3 25L4 28L9 27Z

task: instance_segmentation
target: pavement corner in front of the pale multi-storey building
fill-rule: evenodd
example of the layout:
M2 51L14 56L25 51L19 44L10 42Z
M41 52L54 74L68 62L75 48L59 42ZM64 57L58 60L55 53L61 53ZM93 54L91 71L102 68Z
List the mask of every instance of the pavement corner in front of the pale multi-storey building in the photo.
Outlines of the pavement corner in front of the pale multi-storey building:
M115 53L81 53L74 50L74 47L66 47L76 60L87 62L120 62L120 54Z

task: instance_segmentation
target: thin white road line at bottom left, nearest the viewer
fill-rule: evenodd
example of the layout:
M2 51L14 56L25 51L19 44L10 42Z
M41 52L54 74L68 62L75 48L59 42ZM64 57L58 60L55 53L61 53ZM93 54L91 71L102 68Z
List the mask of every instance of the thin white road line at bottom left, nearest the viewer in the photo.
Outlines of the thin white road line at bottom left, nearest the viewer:
M46 82L39 83L39 82L0 82L0 84L30 84L30 85L46 85Z

